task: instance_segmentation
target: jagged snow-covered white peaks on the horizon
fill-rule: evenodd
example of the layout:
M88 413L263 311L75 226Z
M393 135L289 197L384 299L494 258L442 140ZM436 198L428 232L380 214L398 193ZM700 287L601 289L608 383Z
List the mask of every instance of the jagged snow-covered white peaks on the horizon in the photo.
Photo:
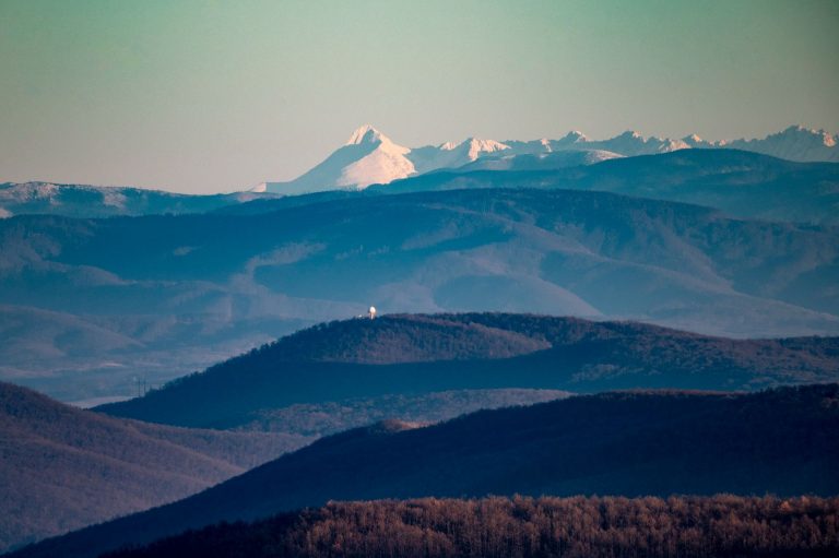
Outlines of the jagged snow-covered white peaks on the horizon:
M560 140L498 142L469 138L460 143L447 142L410 149L394 143L366 124L353 132L343 147L311 170L287 182L263 182L255 191L298 194L333 189L363 189L430 170L474 165L485 157L510 159L523 155L532 159L534 156L552 155L551 164L558 168L619 156L652 155L688 149L743 150L789 161L839 162L836 135L800 126L789 127L763 140L705 141L697 135L670 140L625 132L610 140L593 141L575 131ZM571 152L575 155L556 157L553 154L557 152ZM512 163L507 165L516 166Z

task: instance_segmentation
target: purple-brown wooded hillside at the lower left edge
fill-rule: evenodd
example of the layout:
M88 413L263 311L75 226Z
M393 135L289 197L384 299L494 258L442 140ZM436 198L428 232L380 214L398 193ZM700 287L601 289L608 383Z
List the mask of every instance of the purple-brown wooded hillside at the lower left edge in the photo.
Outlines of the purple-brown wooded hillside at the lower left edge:
M308 440L117 419L0 383L0 551L184 498Z

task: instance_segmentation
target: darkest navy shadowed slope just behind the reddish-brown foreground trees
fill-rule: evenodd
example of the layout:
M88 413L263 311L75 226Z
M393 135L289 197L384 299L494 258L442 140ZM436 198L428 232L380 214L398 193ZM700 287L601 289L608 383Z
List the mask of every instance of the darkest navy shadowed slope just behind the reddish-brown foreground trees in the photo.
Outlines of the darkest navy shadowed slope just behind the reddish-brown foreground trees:
M327 500L839 490L839 387L612 393L324 438L172 506L15 556L96 556Z

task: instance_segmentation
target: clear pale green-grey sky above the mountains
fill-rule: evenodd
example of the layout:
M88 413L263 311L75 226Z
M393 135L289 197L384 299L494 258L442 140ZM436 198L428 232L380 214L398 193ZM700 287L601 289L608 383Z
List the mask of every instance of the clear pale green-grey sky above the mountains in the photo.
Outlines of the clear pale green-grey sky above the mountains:
M371 123L468 136L839 132L839 2L0 0L0 181L209 193Z

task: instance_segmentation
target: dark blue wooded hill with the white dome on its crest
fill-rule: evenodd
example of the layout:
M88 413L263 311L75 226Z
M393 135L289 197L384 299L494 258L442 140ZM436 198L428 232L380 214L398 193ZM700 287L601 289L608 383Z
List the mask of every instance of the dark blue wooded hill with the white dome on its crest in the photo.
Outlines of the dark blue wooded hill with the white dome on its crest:
M144 397L98 409L212 428L258 428L273 417L272 428L311 434L295 429L306 422L296 423L292 409L342 416L359 405L335 402L389 408L388 396L421 401L451 390L749 390L837 381L838 370L839 337L734 341L570 318L386 316L302 331Z

